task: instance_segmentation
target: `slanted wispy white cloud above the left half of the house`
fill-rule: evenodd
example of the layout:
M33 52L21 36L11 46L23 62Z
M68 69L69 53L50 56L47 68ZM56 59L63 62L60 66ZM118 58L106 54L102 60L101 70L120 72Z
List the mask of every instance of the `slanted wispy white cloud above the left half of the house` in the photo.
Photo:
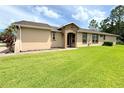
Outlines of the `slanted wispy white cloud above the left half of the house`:
M50 17L50 18L60 18L61 17L57 12L55 12L55 11L49 9L48 7L45 7L45 6L36 6L35 9L38 12L40 12L41 14L43 14L47 17Z

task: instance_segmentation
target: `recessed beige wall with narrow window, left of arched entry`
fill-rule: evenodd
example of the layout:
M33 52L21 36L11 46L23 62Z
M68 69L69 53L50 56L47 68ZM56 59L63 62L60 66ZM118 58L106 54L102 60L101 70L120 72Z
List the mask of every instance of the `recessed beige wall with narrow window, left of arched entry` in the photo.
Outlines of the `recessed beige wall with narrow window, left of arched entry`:
M52 33L51 33L52 36ZM55 33L55 40L52 40L51 38L51 47L57 48L57 47L64 47L64 37L63 34L60 32Z

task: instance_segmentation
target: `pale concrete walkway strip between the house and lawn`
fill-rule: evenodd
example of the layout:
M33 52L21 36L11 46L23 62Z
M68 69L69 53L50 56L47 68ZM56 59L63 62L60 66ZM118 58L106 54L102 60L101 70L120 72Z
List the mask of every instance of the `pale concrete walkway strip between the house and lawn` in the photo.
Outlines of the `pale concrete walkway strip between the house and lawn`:
M22 54L33 54L33 53L44 53L44 52L54 52L54 51L66 51L66 50L74 50L77 48L66 48L66 49L62 49L62 48L52 48L52 49L48 49L48 50L39 50L39 51L28 51L28 52L20 52L20 53L0 53L0 57L4 57L4 56L14 56L14 55L22 55Z

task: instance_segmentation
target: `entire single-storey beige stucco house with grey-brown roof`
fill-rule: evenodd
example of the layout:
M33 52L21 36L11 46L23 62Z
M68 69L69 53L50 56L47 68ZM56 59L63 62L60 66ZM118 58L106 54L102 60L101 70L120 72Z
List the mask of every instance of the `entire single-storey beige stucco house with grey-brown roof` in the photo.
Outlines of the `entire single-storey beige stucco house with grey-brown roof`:
M83 29L74 23L54 27L44 23L14 22L17 32L15 52L51 48L102 45L104 41L116 44L117 35Z

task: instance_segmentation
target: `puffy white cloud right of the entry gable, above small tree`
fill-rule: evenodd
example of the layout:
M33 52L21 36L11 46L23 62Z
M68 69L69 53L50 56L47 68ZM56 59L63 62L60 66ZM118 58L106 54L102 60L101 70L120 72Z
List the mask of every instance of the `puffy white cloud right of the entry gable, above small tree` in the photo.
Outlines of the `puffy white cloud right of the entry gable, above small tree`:
M76 13L72 14L72 17L78 21L90 21L91 19L95 19L100 22L106 17L106 14L99 9L88 9L83 6L78 6L76 7Z

